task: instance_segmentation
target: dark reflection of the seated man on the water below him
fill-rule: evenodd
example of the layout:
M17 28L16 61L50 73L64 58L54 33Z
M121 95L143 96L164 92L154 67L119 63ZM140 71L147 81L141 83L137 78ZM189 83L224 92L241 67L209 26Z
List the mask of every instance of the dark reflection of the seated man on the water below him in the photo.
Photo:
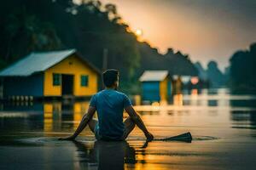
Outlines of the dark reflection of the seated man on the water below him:
M125 163L136 163L135 150L126 141L124 142L104 142L96 141L91 148L82 142L73 142L78 148L80 157L79 167L93 165L99 170L104 169L124 169Z

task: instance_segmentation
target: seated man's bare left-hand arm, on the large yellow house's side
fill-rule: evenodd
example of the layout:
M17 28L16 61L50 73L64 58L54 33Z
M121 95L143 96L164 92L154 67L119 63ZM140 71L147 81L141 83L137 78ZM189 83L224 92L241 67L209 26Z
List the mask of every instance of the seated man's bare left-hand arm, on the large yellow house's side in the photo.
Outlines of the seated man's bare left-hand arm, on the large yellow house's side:
M79 133L81 133L84 130L84 127L86 127L86 125L88 124L88 122L90 122L90 119L92 118L92 116L95 114L96 112L96 108L89 106L89 109L87 111L87 114L84 114L81 122L79 123L79 127L77 128L77 130L73 133L73 135L67 137L67 138L61 138L61 140L73 140L75 139Z

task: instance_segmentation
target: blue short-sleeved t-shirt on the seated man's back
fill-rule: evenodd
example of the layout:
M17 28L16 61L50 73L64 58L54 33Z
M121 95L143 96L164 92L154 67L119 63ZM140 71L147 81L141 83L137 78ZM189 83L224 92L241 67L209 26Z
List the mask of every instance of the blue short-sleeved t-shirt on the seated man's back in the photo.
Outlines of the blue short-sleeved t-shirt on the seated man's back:
M125 130L123 112L131 100L113 89L104 89L93 95L90 106L96 107L99 134L107 139L120 139Z

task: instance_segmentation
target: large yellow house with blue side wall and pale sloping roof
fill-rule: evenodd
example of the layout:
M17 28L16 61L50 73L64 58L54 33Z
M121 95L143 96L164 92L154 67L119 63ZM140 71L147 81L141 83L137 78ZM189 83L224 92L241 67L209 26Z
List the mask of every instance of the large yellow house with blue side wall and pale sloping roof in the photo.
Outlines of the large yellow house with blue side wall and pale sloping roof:
M3 96L91 96L100 71L75 49L32 53L0 72Z

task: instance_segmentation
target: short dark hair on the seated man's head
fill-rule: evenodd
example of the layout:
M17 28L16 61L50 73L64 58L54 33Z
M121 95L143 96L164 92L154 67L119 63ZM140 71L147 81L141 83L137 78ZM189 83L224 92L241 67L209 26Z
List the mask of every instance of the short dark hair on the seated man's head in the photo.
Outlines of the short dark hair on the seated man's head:
M118 80L119 71L114 69L108 69L107 71L103 72L102 77L104 85L108 88L112 87L114 82Z

